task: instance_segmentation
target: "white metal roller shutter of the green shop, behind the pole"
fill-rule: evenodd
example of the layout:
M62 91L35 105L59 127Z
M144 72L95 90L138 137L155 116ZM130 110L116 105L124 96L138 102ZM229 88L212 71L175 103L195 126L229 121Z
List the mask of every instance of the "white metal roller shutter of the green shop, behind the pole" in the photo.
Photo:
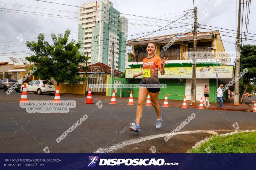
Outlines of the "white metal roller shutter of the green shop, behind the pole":
M209 78L198 78L196 79L196 97L195 100L200 101L201 97L204 99L204 88L208 85L209 88ZM187 100L191 100L191 79L186 79L185 95Z

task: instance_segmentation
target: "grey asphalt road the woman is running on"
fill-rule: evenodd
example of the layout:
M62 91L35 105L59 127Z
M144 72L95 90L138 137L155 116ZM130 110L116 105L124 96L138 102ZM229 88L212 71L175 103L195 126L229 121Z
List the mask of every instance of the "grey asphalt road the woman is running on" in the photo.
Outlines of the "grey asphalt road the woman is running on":
M140 124L141 133L127 129L120 134L120 131L135 119L136 104L131 106L124 102L117 102L117 105L110 105L109 98L106 101L102 100L103 107L99 109L95 104L84 104L85 96L83 95L62 94L61 100L77 102L77 106L71 108L69 113L27 113L25 108L19 106L20 96L21 93L12 92L7 95L0 91L1 153L42 153L46 146L52 153L91 153L100 147L106 148L125 140L138 140L145 136L170 133L192 113L196 114L195 118L180 131L205 129L234 131L232 125L235 122L238 123L239 130L256 129L256 114L253 112L162 106L160 107L163 123L160 129L155 129L154 107L144 106ZM54 96L28 94L28 98L29 100L53 100ZM93 100L93 102L97 101ZM88 118L57 143L56 138L85 114ZM165 142L158 138L158 145L159 140ZM173 142L172 145L182 145L184 141L177 138L170 139L168 142ZM195 142L197 141L193 141ZM151 143L150 145L154 144ZM154 145L157 146L157 144ZM119 149L119 151L132 152L129 149Z

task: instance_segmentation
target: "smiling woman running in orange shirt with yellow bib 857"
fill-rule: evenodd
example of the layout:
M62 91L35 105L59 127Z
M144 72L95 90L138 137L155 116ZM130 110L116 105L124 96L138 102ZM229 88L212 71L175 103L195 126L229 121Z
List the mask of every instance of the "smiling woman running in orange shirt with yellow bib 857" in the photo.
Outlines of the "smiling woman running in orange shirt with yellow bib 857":
M148 88L147 85L160 85L158 79L158 70L160 71L161 75L164 75L164 65L166 60L161 60L159 56L155 56L155 52L157 50L157 45L155 42L150 42L146 48L146 55L147 58L143 59L143 72L139 74L134 74L133 77L142 76L140 88L139 88L139 95L138 95L138 105L136 110L136 124L130 127L131 131L140 132L140 120L142 116L142 109L145 98L147 94L150 93L151 103L154 106L156 113L157 113L157 124L156 128L159 129L162 125L162 117L160 116L160 107L158 104L158 94L160 88Z

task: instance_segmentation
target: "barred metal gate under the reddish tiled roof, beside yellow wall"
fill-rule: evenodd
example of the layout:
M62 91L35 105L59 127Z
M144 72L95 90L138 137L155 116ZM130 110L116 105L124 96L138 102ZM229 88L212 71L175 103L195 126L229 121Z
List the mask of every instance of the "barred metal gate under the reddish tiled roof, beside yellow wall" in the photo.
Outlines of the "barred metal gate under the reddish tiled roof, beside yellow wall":
M90 84L97 84L97 85L106 85L107 83L107 76L102 75L89 75L86 80L86 92L89 90ZM106 92L106 88L91 88L92 92Z

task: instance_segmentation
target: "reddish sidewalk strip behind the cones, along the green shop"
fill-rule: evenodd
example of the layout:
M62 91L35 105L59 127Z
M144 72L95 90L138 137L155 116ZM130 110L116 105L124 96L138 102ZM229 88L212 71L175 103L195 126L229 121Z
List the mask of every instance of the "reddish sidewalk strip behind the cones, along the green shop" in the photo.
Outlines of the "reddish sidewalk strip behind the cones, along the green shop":
M109 103L111 101L111 96L93 95L92 97L95 100L109 101ZM116 102L128 103L128 101L129 101L128 97L116 97ZM136 103L138 102L138 98L133 98L133 102L136 105ZM164 102L164 99L159 99L158 101L159 105L163 105L163 102ZM183 100L168 100L169 106L182 107L182 103L183 103ZM196 101L196 106L190 106L191 100L186 100L186 103L187 103L187 107L189 108L198 108L200 101ZM217 103L210 102L210 106L207 109L228 110L228 111L250 111L250 110L252 111L252 109L247 104L244 104L244 103L240 104L239 106L234 106L234 98L229 98L227 100L224 100L222 107L224 107L224 109L218 108ZM205 105L204 105L204 108L206 109Z

